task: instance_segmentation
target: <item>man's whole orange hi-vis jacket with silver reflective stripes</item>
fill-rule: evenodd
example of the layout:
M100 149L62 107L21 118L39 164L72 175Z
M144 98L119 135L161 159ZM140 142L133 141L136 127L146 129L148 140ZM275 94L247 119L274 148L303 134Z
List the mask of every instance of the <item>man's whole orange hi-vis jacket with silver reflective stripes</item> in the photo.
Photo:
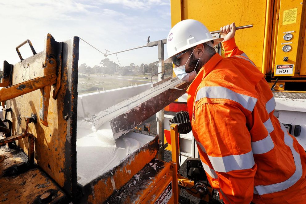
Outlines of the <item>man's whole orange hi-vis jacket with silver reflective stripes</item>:
M306 153L273 115L267 81L234 38L189 86L192 132L225 203L306 203Z

